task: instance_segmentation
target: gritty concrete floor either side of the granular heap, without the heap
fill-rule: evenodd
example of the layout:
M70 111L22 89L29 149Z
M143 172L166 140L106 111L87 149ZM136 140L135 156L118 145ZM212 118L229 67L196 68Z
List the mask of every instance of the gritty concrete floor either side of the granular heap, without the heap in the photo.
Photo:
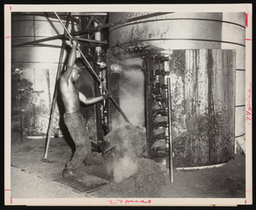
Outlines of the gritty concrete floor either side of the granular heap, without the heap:
M61 173L73 154L70 144L63 138L51 139L48 158L51 162L41 162L44 156L44 139L24 139L12 133L11 145L11 196L13 198L62 198L99 197L101 190L108 188L111 181L104 173L104 167L85 167L79 178L62 179ZM169 182L165 165L160 165L165 183L160 185L157 197L245 197L245 156L236 154L223 167L197 171L176 171L174 183ZM101 171L101 173L99 173ZM149 184L149 183L148 183ZM119 184L115 184L119 188ZM125 186L126 191L131 186ZM113 190L113 189L112 189ZM108 196L112 196L111 191ZM106 196L107 197L107 196ZM120 196L121 197L121 196ZM131 195L132 197L132 195ZM143 195L142 195L143 197Z

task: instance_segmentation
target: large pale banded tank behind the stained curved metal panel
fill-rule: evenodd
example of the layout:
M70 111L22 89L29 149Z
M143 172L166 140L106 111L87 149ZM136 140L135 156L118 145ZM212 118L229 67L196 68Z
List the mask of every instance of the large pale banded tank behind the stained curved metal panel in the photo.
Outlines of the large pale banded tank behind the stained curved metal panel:
M151 13L109 13L109 22ZM236 49L235 137L245 135L245 13L172 13L109 29L109 48L149 46L170 49ZM233 150L233 148L231 148ZM234 148L234 150L236 150Z

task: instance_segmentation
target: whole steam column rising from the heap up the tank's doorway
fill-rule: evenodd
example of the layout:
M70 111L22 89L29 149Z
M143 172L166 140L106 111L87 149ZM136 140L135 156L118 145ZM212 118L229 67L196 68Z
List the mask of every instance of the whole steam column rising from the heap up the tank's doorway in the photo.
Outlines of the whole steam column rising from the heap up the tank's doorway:
M108 162L109 173L112 173L115 182L137 173L137 158L146 145L145 125L145 99L143 60L141 58L123 60L123 70L119 81L119 105L131 125L123 117L112 119L113 131L105 139L110 139L111 146L116 152L113 159Z

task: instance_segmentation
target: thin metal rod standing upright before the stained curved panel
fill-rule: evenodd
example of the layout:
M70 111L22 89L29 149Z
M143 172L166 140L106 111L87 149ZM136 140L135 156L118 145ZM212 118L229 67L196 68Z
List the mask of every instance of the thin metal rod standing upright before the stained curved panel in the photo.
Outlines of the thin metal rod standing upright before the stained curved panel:
M169 173L170 180L173 183L173 156L172 156L172 100L171 100L171 78L167 77L167 93L168 93L168 124L169 124Z

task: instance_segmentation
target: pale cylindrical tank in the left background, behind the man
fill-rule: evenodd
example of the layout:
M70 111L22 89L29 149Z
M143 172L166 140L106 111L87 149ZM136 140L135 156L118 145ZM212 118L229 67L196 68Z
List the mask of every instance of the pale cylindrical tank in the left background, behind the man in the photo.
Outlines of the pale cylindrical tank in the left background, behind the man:
M40 15L12 16L12 69L22 70L20 79L32 82L33 91L25 95L26 105L24 113L24 128L31 136L44 136L49 126L49 113L55 90L55 77L61 56L61 39L55 39L39 45L24 45L20 43L32 42L38 39L53 37L64 33L59 20ZM63 20L63 23L65 21ZM70 30L71 25L68 29ZM75 25L77 28L77 26ZM61 65L67 57L65 49ZM55 108L54 128L59 124L58 103Z

